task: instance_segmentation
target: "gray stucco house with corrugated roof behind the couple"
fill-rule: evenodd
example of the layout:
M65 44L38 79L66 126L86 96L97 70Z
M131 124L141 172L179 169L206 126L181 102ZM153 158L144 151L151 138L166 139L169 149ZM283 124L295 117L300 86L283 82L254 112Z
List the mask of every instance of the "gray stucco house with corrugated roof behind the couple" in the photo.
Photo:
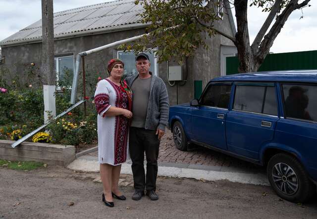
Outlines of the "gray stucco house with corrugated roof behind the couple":
M231 10L223 10L222 19L216 21L214 26L234 37L236 30ZM74 57L79 52L144 34L149 24L141 22L139 14L142 11L143 7L136 5L134 0L114 0L54 13L54 60L57 80L63 78L65 69L73 72ZM166 83L171 105L188 102L211 78L225 74L225 62L223 64L222 60L235 55L235 46L220 35L207 37L206 41L210 45L209 49L198 48L195 55L178 68L181 69L182 77L177 82L167 81L167 70L177 63L158 63L154 52L149 53L151 71ZM10 72L6 76L9 82L17 75L23 82L31 63L34 63L34 78L43 80L44 74L40 72L42 20L0 41L0 46L3 59L0 69L5 68ZM137 74L133 52L124 52L113 47L85 57L87 77L107 77L106 65L111 58L120 58L125 62L126 75ZM94 86L91 90L93 89Z

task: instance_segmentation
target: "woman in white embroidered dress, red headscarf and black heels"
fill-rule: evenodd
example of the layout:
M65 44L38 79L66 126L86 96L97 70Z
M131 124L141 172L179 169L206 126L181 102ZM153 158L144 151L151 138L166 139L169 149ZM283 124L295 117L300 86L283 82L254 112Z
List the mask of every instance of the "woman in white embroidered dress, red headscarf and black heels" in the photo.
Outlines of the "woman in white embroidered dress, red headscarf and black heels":
M103 202L113 207L113 197L125 200L118 190L121 164L128 156L129 122L132 118L132 91L122 80L124 63L111 59L109 77L97 84L95 105L98 112L98 160L103 181Z

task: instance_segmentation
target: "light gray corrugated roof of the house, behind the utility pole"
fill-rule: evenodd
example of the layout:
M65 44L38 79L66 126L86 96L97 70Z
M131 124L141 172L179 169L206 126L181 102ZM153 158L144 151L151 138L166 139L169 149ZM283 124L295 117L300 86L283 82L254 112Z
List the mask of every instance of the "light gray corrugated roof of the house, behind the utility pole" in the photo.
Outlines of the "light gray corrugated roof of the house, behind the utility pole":
M143 7L135 5L134 0L115 0L56 12L54 13L54 36L83 31L88 31L87 34L89 34L89 30L141 23L138 14L142 10ZM42 38L42 20L2 40L0 45L40 38Z

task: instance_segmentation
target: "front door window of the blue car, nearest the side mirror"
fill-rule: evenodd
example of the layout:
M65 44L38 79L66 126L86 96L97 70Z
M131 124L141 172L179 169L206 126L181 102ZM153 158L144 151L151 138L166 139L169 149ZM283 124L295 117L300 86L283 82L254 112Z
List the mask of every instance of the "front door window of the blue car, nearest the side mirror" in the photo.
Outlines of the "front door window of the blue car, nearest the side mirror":
M204 92L200 104L219 108L228 108L231 85L209 85Z

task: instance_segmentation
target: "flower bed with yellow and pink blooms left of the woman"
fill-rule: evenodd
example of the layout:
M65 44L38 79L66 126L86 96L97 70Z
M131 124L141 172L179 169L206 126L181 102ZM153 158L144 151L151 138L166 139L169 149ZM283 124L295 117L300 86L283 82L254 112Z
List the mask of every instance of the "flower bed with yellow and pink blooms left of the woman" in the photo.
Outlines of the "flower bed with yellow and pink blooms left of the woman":
M3 72L2 72L3 74ZM3 76L3 75L2 75ZM67 77L64 77L65 80ZM71 106L70 77L68 83L59 82L62 90L55 92L56 115ZM96 85L95 77L92 84ZM78 89L80 90L80 89ZM63 117L53 121L45 130L36 133L27 141L56 143L64 145L83 146L97 142L97 113L93 103L93 92L85 97L87 100L87 115L83 104L73 109ZM1 77L0 72L0 139L18 140L44 124L43 88L32 86L31 83L18 85L15 80L10 84Z

